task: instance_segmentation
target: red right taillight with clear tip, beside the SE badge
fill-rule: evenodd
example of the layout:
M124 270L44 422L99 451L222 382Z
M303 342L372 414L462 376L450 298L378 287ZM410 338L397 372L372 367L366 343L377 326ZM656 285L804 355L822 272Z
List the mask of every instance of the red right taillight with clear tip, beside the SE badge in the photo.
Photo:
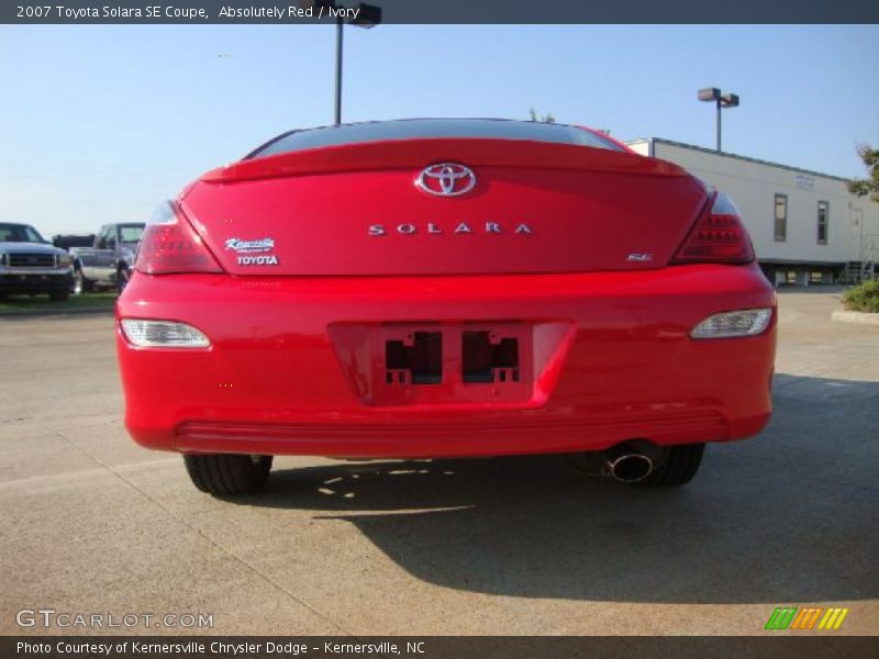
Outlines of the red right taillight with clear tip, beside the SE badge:
M671 260L674 264L749 264L754 247L733 200L716 192Z

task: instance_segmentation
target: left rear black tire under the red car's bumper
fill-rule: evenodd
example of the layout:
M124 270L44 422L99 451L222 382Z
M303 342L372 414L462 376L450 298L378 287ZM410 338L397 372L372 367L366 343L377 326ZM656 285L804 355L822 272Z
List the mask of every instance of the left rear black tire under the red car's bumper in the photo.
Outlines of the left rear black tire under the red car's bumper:
M271 456L185 455L183 461L192 484L214 496L256 492L271 470Z

